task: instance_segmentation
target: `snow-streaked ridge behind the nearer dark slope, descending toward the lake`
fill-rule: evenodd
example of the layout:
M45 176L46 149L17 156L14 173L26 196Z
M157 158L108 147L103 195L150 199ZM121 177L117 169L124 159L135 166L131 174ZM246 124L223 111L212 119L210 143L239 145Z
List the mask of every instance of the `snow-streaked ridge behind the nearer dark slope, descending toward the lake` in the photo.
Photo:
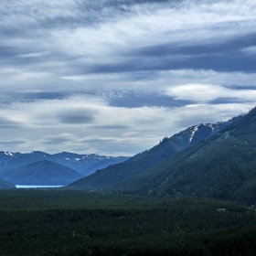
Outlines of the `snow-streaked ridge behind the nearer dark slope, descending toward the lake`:
M134 155L121 164L110 165L104 169L98 170L93 175L70 184L69 187L83 189L113 187L123 179L137 175L144 170L165 161L165 159L171 155L175 155L177 152L180 152L193 144L206 140L212 134L218 133L229 123L233 123L240 119L240 117L235 117L228 122L214 124L200 123L189 127L180 133L176 133L170 138L165 137L160 144L155 145L155 147L150 150Z

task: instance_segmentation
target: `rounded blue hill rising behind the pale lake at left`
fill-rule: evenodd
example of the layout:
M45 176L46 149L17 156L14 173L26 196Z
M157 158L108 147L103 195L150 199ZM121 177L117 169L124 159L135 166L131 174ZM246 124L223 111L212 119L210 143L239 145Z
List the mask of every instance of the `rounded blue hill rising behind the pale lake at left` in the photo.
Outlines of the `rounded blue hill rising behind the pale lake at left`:
M48 160L6 170L0 176L16 185L67 185L82 177L69 167Z

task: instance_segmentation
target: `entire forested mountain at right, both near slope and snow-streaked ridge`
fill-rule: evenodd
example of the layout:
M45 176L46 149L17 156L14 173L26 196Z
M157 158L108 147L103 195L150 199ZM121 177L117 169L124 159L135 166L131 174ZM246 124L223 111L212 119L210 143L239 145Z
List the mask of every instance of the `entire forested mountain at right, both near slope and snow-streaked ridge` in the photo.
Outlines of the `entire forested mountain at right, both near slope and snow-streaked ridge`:
M156 165L148 168L149 164L143 161L142 156L148 159L147 156L153 151L165 148L164 144L169 149L173 148L170 146L173 137L165 138L149 152L135 155L123 164L98 170L69 187L111 189L123 193L166 197L215 198L255 204L256 108L223 124L221 129L217 129L208 138L201 140L203 136L200 136L201 141L192 144L199 127L197 125L176 134L176 141L182 141L185 134L189 133L187 138L191 142L190 146L176 150L175 154L166 157L164 161L158 161ZM166 150L162 153L165 154ZM133 161L136 161L137 168L133 169L133 165L128 165ZM130 170L128 175L123 174L123 168L126 168L126 172L127 168Z

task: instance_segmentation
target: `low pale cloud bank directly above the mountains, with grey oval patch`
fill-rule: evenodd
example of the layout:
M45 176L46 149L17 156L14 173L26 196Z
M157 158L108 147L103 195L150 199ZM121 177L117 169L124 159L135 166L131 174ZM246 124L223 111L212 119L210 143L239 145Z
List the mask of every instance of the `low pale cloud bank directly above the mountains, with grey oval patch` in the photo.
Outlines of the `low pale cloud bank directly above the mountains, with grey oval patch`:
M80 119L76 119L74 106L79 110ZM93 112L85 111L89 106ZM185 124L191 126L202 121L211 123L228 120L234 115L246 112L251 106L253 104L250 102L242 102L173 108L126 108L110 106L107 101L85 96L25 101L14 103L5 111L0 111L2 116L12 115L13 121L23 123L19 126L18 133L9 133L7 127L1 129L1 133L8 142L14 135L16 141L24 142L10 144L8 150L11 151L37 149L54 153L68 149L72 152L100 155L133 155L154 146L163 136L170 136L187 128ZM89 119L82 119L81 113L84 112L89 113Z

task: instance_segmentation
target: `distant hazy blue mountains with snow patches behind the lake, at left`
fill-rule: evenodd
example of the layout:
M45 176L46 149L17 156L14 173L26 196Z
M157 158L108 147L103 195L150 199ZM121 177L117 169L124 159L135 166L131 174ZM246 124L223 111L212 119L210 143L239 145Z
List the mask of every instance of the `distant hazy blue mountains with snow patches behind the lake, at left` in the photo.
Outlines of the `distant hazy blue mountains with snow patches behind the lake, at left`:
M0 177L16 185L68 185L96 169L121 163L125 156L78 155L62 152L0 152Z

